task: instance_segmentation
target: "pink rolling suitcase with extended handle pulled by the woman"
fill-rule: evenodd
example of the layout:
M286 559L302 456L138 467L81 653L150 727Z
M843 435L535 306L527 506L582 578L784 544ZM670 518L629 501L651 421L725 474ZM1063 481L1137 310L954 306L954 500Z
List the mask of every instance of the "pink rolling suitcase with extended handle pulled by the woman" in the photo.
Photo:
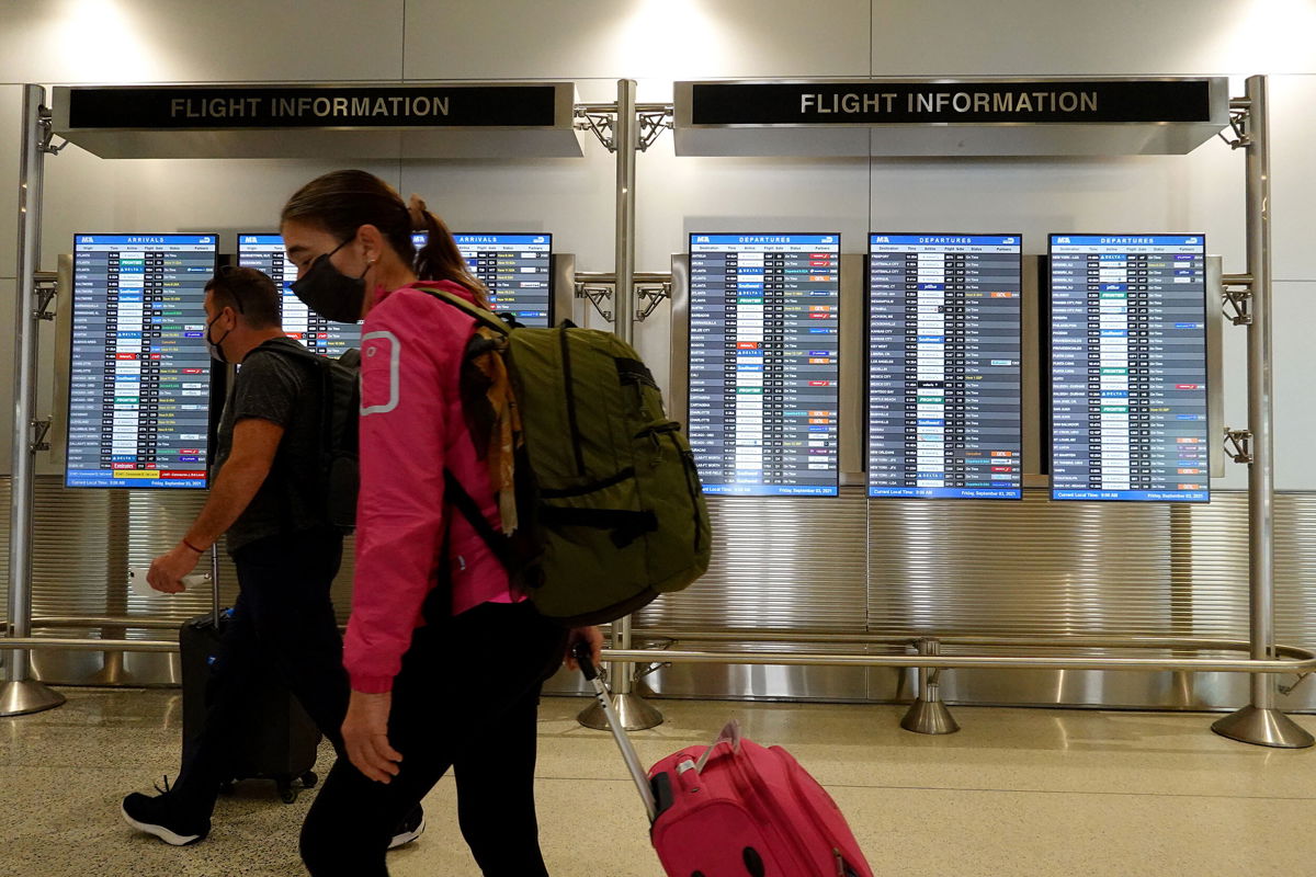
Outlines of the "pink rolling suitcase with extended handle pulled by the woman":
M782 747L728 724L711 747L688 747L646 774L608 688L576 652L645 801L650 839L669 877L873 877L830 795Z

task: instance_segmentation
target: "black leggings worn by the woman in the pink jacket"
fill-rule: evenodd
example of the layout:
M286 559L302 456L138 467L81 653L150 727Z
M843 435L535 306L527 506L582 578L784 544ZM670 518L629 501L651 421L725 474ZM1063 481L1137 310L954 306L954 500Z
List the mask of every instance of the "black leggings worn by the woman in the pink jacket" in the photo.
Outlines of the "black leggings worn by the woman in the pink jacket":
M566 631L529 604L486 604L416 631L393 682L391 782L338 759L301 828L313 877L387 877L392 827L449 768L462 836L486 877L546 877L534 813L540 686Z

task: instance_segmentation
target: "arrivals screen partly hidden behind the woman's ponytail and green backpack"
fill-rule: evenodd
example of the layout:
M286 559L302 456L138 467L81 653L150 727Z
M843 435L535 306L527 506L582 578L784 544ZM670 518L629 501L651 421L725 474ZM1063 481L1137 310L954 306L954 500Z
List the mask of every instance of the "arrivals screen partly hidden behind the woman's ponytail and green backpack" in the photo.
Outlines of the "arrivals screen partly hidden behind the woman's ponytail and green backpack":
M429 235L417 231L418 252ZM516 316L526 326L553 321L551 234L454 233L457 249L476 280L490 291L490 306Z

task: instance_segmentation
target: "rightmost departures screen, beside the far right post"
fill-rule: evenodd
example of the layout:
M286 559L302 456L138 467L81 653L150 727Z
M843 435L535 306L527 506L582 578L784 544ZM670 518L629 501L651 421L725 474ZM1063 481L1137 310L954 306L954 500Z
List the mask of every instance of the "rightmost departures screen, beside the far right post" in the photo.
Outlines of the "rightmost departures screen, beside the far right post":
M1050 235L1051 497L1211 498L1205 238Z

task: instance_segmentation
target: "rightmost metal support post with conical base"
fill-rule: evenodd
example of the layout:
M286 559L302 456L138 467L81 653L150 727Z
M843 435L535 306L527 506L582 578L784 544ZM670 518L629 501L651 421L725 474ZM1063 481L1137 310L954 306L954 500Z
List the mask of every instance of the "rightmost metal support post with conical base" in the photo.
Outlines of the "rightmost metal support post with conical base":
M1252 276L1248 326L1248 582L1250 586L1252 657L1275 655L1275 471L1274 397L1271 392L1270 279L1270 120L1266 76L1248 78L1248 107L1240 139L1246 150L1248 273ZM1242 743L1279 748L1312 746L1313 738L1275 707L1277 680L1252 677L1252 703L1211 728Z

